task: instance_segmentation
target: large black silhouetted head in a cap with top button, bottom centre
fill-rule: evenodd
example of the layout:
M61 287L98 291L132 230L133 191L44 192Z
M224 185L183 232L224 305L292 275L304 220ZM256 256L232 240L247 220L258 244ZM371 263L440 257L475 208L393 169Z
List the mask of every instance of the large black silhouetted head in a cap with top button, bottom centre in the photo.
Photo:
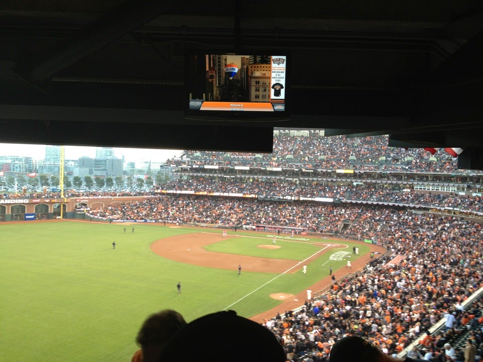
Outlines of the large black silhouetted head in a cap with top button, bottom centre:
M188 323L166 344L158 362L285 362L285 350L263 325L224 311Z

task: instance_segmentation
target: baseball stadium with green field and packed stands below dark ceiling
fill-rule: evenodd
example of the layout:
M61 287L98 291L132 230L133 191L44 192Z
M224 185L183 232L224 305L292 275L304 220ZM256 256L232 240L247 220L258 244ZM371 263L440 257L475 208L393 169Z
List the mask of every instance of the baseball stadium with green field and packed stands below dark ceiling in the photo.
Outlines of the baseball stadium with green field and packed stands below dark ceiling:
M129 360L164 309L235 310L293 361L329 361L345 335L435 362L472 339L483 355L483 172L387 136L273 141L184 151L143 191L66 188L61 172L58 191L0 194L0 359Z

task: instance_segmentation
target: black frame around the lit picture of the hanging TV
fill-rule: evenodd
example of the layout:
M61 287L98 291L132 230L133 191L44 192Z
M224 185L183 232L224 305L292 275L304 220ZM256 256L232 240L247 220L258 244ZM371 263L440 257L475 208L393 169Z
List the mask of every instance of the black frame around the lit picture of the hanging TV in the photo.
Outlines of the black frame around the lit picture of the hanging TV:
M284 56L286 57L287 67L285 69L284 86L284 111L278 112L259 112L259 111L202 111L190 109L190 93L193 89L193 79L196 74L191 74L190 59L193 56L210 55L265 55L265 56ZM209 121L253 121L253 122L274 122L288 121L290 115L291 101L291 52L287 50L220 50L220 49L194 49L188 50L184 55L184 87L183 87L183 111L186 120L209 120Z

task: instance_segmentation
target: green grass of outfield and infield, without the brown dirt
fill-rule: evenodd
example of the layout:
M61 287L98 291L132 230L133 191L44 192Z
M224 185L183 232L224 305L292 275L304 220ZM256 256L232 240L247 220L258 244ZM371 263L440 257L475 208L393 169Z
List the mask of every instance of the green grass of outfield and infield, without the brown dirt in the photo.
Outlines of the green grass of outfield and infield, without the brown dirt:
M153 312L173 308L191 321L229 308L251 317L281 303L270 294L297 294L325 277L329 265L336 272L346 264L329 261L325 253L308 264L306 275L237 276L236 270L184 264L150 250L155 240L200 229L136 224L134 233L130 226L124 233L123 228L75 221L0 224L0 360L128 361L142 321ZM207 249L298 261L320 250L280 238L280 249L261 249L256 246L263 238L272 243L268 233L237 234L244 236ZM353 244L345 243L352 251ZM369 250L358 246L360 255Z

